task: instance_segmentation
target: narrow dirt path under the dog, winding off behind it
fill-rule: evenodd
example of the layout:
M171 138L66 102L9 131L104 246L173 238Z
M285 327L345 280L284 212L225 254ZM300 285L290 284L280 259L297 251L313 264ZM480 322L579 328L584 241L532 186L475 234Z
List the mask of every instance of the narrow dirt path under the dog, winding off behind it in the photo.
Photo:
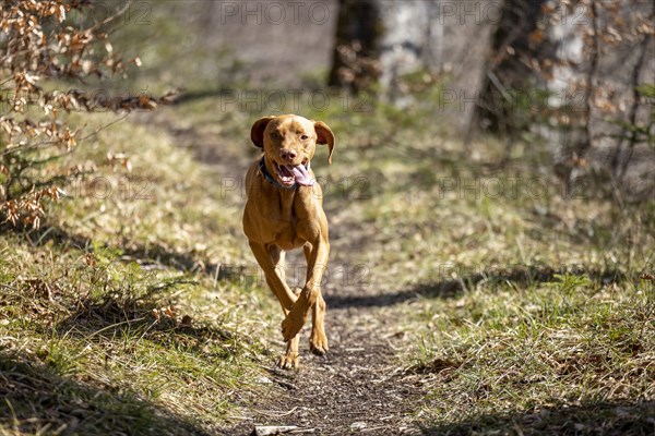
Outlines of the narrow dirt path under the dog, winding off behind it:
M212 164L217 178L243 177L249 164L249 158L243 158L246 154L216 150L215 137L195 129L176 131L159 117L154 122L166 125L200 160ZM412 424L420 384L416 376L406 374L408 363L400 362L396 353L406 349L408 342L398 323L403 307L395 304L397 294L382 290L389 286L378 284L380 271L370 262L358 261L367 251L382 250L367 245L374 229L367 229L343 205L333 209L326 205L326 213L332 249L323 293L330 352L324 358L309 352L306 325L300 332L300 370L282 371L271 361L266 367L269 376L262 383L273 384L272 396L242 411L240 424L222 429L226 435L257 434L259 426L297 427L288 434L420 433ZM300 252L287 255L287 265L303 263ZM279 340L271 352L278 356L284 348Z

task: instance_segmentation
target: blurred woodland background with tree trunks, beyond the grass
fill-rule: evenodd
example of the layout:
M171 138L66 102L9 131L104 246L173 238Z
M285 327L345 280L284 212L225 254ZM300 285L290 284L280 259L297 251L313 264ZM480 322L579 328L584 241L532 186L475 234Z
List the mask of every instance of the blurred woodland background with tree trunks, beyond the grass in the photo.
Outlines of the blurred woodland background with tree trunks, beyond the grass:
M641 0L138 1L119 34L151 92L270 112L294 100L321 109L324 92L348 92L359 97L346 112L416 111L464 143L501 136L508 155L538 137L567 183L644 199L655 179L653 13Z

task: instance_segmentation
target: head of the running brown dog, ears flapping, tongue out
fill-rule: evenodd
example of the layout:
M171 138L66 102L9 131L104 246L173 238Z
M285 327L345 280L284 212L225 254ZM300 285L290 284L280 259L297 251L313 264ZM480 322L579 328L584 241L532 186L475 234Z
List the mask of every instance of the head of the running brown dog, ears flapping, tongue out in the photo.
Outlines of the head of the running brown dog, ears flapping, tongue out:
M263 149L269 171L284 186L308 183L307 167L317 144L327 144L332 164L334 134L322 121L294 114L264 117L252 124L250 138Z

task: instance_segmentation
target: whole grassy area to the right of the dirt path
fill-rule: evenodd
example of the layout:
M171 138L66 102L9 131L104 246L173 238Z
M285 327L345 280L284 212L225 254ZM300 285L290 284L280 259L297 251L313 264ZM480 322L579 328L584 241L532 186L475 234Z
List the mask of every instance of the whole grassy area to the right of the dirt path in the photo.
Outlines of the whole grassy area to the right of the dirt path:
M430 434L652 434L652 203L567 196L531 150L500 165L493 143L471 157L402 134L416 159L377 147L386 178L359 208L384 247L369 257L376 283L419 295L396 315L426 387L417 421Z

